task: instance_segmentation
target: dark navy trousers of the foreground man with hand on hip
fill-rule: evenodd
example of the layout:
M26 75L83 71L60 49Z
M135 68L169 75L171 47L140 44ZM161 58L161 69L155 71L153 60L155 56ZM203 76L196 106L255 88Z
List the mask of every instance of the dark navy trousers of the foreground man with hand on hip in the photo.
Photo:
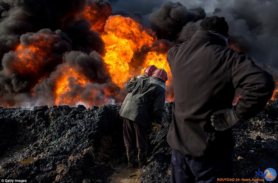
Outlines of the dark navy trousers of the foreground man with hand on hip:
M220 178L232 178L233 154L192 157L173 150L171 159L171 183L215 183Z

